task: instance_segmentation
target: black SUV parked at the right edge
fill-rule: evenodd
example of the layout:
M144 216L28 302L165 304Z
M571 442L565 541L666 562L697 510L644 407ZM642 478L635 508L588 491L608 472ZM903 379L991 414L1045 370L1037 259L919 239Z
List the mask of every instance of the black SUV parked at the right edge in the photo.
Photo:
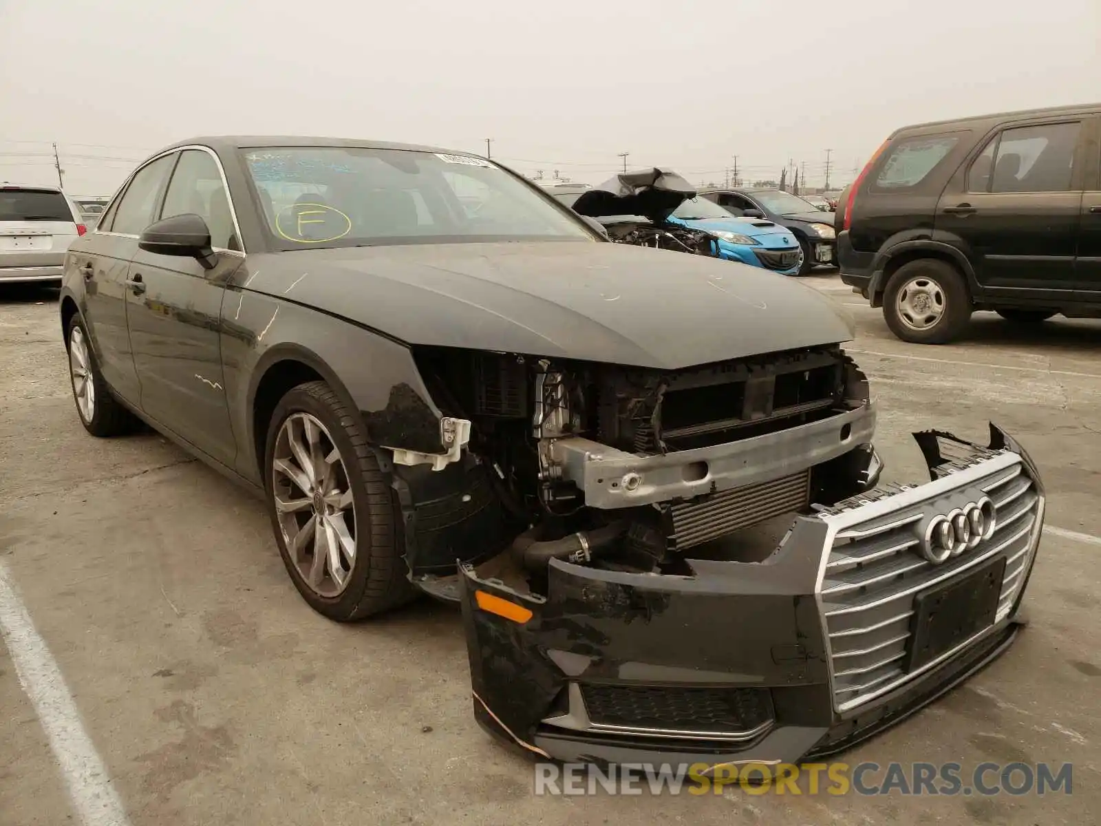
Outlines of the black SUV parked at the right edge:
M1099 138L1101 104L895 131L841 194L841 280L919 344L975 309L1101 317Z

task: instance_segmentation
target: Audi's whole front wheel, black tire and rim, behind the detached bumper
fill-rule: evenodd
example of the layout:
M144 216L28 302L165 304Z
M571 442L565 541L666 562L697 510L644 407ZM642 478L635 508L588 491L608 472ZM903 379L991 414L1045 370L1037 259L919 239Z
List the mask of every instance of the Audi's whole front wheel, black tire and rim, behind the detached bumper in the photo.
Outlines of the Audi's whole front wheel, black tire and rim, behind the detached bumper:
M280 555L315 611L350 622L415 595L393 492L357 417L328 384L299 384L280 400L264 476Z

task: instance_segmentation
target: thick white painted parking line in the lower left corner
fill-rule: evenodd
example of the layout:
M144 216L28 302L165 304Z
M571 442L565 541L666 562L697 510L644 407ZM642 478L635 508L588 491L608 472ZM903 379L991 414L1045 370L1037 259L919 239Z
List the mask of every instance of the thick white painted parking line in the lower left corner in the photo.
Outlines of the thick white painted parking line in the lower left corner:
M102 760L80 722L73 695L45 641L0 564L0 634L8 643L19 683L31 698L50 748L61 765L69 798L84 826L129 826Z

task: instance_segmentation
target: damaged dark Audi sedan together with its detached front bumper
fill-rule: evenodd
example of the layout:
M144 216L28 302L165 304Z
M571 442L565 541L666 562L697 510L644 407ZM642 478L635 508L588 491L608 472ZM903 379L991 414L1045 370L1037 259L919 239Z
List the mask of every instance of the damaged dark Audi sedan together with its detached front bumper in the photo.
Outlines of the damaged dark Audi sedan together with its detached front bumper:
M835 304L482 157L167 148L69 248L61 322L85 428L262 494L317 611L460 602L477 718L531 753L794 762L1018 627L1044 493L1011 436L917 434L929 480L880 485Z

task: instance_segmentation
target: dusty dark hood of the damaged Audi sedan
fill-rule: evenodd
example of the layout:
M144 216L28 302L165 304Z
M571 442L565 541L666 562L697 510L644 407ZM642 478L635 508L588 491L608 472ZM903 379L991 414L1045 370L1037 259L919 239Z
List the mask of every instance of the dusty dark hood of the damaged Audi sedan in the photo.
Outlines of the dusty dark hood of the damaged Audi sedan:
M674 369L853 337L839 305L783 275L626 244L410 244L249 263L249 290L407 344Z

